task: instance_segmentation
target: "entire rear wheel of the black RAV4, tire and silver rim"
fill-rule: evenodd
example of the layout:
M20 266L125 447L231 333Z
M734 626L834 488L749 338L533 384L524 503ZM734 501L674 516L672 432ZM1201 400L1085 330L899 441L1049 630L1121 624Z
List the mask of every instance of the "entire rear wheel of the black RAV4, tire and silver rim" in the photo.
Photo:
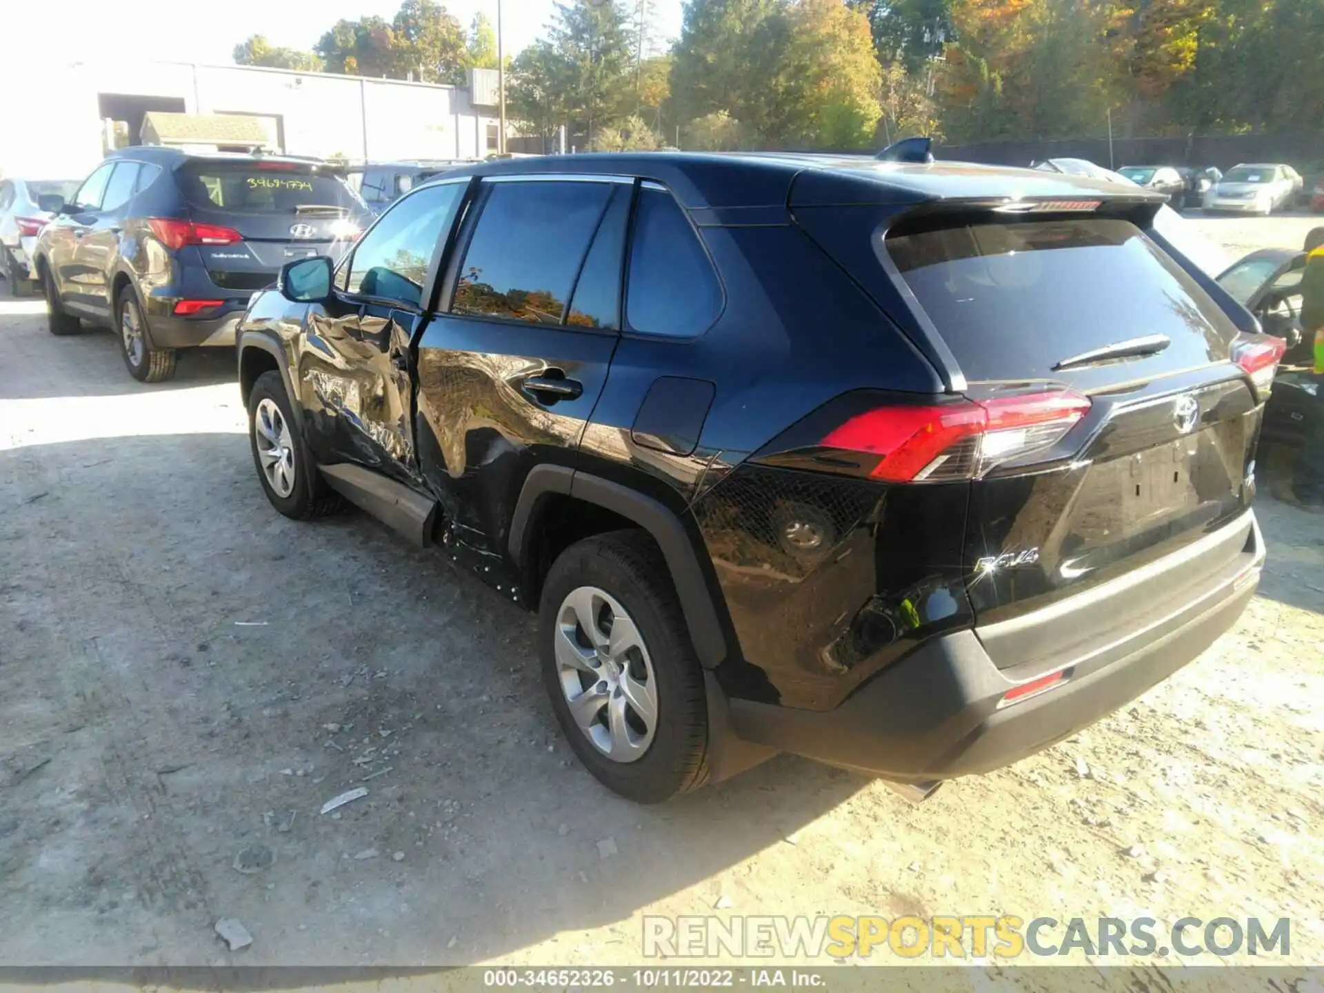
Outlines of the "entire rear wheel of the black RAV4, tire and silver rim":
M622 613L630 629L618 626ZM538 630L556 720L602 785L657 804L707 784L703 670L666 560L649 535L614 531L561 552L543 584ZM620 647L629 650L613 655L617 632L625 632ZM583 726L572 700L584 702L576 708Z

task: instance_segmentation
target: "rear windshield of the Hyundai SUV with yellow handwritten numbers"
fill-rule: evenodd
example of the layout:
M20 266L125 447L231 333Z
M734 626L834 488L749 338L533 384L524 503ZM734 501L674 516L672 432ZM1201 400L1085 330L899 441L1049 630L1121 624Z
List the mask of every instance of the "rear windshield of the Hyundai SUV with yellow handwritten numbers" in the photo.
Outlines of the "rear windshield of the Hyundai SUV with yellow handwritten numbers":
M191 162L175 173L189 207L237 213L295 214L311 208L354 212L357 197L334 176L311 167Z

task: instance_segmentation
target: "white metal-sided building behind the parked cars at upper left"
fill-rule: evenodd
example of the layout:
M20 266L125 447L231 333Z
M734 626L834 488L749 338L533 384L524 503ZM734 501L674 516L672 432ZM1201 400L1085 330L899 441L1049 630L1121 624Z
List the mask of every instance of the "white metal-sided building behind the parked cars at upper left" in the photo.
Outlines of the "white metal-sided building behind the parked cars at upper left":
M123 122L119 130L138 144L152 110L261 118L273 144L291 155L473 159L496 151L496 107L475 107L461 86L120 58L46 66L21 91L26 98L0 101L0 175L85 176L110 144L109 122Z

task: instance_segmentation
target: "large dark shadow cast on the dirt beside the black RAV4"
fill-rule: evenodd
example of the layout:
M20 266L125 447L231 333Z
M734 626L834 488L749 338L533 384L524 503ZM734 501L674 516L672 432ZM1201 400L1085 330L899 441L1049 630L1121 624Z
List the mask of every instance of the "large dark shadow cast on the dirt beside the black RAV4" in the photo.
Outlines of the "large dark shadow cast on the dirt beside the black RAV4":
M0 508L13 964L208 964L225 916L254 965L474 961L626 922L865 784L788 757L614 797L528 616L363 516L281 518L242 434L3 451ZM250 845L269 870L233 869Z

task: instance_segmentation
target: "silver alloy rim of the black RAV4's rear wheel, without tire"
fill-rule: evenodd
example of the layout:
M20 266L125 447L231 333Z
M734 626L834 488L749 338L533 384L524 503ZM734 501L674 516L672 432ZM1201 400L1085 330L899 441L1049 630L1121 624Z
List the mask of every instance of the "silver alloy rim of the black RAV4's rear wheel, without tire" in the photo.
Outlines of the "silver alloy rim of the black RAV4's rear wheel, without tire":
M556 612L556 675L571 716L608 759L642 759L658 724L643 636L610 593L579 587Z

